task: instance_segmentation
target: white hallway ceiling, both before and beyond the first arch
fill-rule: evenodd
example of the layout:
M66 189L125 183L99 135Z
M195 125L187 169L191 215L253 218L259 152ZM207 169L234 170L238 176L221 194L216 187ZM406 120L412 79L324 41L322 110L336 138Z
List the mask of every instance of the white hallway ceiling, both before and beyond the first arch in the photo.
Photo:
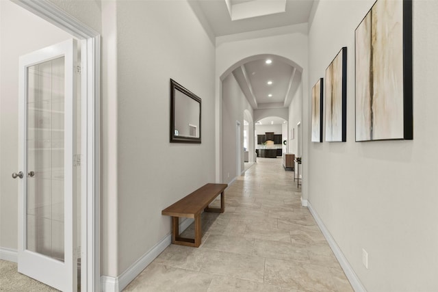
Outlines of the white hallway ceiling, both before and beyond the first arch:
M307 23L313 1L192 0L200 8L195 13L202 14L198 18L207 21L216 37ZM272 63L266 64L266 59ZM299 70L270 55L251 59L232 74L253 109L289 107L301 83Z

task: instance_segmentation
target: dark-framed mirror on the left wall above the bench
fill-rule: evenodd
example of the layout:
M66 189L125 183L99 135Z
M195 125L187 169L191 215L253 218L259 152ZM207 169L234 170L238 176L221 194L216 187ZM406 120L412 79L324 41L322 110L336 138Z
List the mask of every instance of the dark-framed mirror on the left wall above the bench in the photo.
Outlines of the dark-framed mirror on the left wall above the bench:
M201 98L170 79L170 142L201 143Z

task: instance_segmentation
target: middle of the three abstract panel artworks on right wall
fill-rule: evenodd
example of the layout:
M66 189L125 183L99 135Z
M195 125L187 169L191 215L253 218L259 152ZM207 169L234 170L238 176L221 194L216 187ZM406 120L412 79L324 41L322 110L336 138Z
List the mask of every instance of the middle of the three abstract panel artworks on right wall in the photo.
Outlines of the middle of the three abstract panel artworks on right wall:
M326 68L326 141L347 141L347 48Z

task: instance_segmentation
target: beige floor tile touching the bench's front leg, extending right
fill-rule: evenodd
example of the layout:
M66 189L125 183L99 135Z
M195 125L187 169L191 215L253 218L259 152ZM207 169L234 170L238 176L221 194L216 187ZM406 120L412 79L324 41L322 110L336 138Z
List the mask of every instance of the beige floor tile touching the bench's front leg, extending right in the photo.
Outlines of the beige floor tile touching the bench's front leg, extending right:
M204 243L204 248L236 254L253 254L255 239L242 236L210 235Z

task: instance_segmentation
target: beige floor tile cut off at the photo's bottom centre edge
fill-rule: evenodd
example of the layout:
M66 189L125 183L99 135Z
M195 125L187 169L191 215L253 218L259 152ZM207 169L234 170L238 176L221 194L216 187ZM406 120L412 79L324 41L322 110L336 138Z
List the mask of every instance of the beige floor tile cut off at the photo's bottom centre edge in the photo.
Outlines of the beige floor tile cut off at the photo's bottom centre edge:
M208 292L234 292L234 291L248 291L248 292L281 292L281 287L275 287L268 284L242 280L237 278L230 278L224 276L214 276L211 281Z

